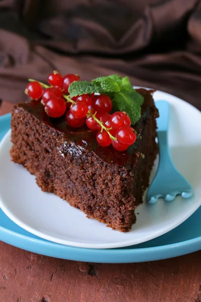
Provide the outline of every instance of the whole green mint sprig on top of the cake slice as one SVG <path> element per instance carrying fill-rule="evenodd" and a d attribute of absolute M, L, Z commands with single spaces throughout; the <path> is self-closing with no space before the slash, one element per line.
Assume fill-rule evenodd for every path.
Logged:
<path fill-rule="evenodd" d="M 112 74 L 91 82 L 76 81 L 70 84 L 68 92 L 71 98 L 83 94 L 107 94 L 113 102 L 114 110 L 127 112 L 132 125 L 141 117 L 144 98 L 133 89 L 128 77 L 121 78 L 118 74 Z"/>

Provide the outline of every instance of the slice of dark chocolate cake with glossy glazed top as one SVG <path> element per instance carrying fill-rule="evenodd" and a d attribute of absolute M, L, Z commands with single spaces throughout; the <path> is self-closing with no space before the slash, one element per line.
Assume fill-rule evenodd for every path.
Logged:
<path fill-rule="evenodd" d="M 64 117 L 50 118 L 33 100 L 14 107 L 12 160 L 34 174 L 43 191 L 60 196 L 88 218 L 130 231 L 157 155 L 153 91 L 137 91 L 144 97 L 142 115 L 134 126 L 137 139 L 127 150 L 98 145 L 95 131 L 71 128 Z"/>

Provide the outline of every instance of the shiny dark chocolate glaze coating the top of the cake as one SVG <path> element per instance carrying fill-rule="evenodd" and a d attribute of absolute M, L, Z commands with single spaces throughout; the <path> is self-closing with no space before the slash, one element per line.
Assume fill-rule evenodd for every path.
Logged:
<path fill-rule="evenodd" d="M 80 128 L 72 128 L 65 122 L 65 116 L 62 116 L 61 118 L 48 117 L 44 111 L 44 106 L 40 103 L 40 101 L 32 100 L 30 103 L 21 103 L 18 106 L 34 115 L 39 121 L 43 122 L 51 128 L 54 128 L 56 131 L 63 133 L 64 142 L 71 141 L 73 142 L 74 146 L 80 146 L 83 156 L 84 152 L 92 151 L 102 161 L 107 162 L 108 164 L 119 165 L 132 170 L 137 163 L 140 152 L 142 152 L 141 145 L 145 121 L 150 117 L 150 109 L 155 109 L 152 98 L 152 93 L 154 91 L 146 89 L 138 89 L 137 91 L 144 97 L 141 118 L 134 125 L 135 130 L 138 132 L 138 135 L 135 143 L 123 152 L 115 150 L 112 145 L 108 147 L 102 147 L 98 145 L 95 139 L 97 131 L 92 131 L 86 126 Z M 65 153 L 65 150 L 62 150 L 62 152 Z"/>

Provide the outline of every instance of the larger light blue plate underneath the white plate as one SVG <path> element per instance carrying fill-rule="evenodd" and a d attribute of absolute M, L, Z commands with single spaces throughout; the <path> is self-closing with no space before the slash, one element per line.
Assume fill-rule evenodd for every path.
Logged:
<path fill-rule="evenodd" d="M 0 140 L 10 129 L 11 115 L 0 117 Z M 3 173 L 3 172 L 2 172 Z M 172 258 L 201 249 L 201 207 L 174 230 L 148 242 L 119 249 L 84 249 L 39 238 L 9 219 L 0 209 L 0 240 L 34 253 L 68 260 L 129 263 Z"/>

